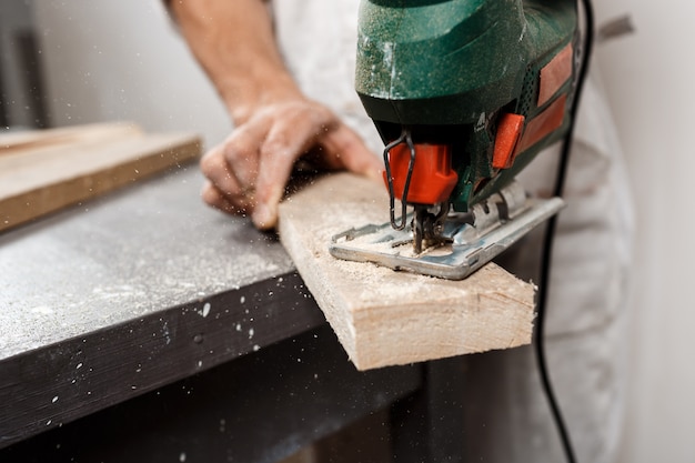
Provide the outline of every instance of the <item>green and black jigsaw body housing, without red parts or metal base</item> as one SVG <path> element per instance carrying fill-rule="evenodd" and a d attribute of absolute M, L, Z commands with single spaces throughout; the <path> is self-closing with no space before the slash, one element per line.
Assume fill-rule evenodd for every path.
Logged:
<path fill-rule="evenodd" d="M 355 87 L 367 114 L 386 143 L 405 127 L 415 142 L 452 147 L 454 210 L 498 191 L 566 132 L 574 0 L 363 0 L 360 18 Z M 541 99 L 542 70 L 567 48 L 570 77 Z M 523 138 L 558 99 L 553 130 L 517 147 L 511 165 L 494 168 L 500 117 L 524 117 Z"/>

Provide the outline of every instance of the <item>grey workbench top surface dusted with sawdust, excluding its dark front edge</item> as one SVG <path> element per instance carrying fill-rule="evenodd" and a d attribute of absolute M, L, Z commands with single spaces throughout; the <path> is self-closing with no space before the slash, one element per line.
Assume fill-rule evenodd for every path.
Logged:
<path fill-rule="evenodd" d="M 194 165 L 0 234 L 0 359 L 292 271 Z"/>

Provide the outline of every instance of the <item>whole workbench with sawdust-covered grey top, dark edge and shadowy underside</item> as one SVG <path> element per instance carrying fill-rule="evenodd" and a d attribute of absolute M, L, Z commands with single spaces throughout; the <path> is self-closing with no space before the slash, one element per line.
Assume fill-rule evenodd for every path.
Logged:
<path fill-rule="evenodd" d="M 0 234 L 0 462 L 273 462 L 384 410 L 395 460 L 461 461 L 461 359 L 357 372 L 276 238 L 201 184 Z"/>

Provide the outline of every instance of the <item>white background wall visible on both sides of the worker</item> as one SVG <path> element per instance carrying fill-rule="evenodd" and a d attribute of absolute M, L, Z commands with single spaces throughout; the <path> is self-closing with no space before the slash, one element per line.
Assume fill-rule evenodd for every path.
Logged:
<path fill-rule="evenodd" d="M 600 19 L 629 11 L 637 27 L 598 50 L 638 220 L 622 462 L 693 462 L 695 2 L 596 7 Z M 215 93 L 157 0 L 39 1 L 36 9 L 53 121 L 128 119 L 149 130 L 198 131 L 208 143 L 225 135 L 229 121 Z"/>

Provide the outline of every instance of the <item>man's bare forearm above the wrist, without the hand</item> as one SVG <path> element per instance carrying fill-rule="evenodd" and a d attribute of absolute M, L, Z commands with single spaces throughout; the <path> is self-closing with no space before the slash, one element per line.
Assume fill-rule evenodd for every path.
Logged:
<path fill-rule="evenodd" d="M 172 0 L 171 10 L 234 123 L 263 104 L 299 95 L 262 0 Z"/>

